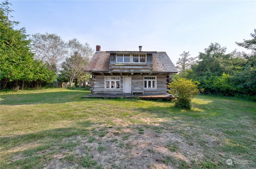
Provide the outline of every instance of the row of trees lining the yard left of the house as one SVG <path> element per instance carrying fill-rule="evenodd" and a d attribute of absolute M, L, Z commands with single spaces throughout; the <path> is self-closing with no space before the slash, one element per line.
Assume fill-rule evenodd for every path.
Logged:
<path fill-rule="evenodd" d="M 54 81 L 82 83 L 89 76 L 83 69 L 94 51 L 76 38 L 65 42 L 54 33 L 27 35 L 26 29 L 14 29 L 8 1 L 0 10 L 1 89 L 39 88 Z M 70 83 L 71 84 L 71 83 Z"/>

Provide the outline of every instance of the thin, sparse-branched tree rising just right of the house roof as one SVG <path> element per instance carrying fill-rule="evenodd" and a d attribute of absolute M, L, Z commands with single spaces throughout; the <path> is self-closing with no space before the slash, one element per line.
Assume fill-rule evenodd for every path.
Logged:
<path fill-rule="evenodd" d="M 183 51 L 183 53 L 180 55 L 181 58 L 179 57 L 178 61 L 176 62 L 176 68 L 180 72 L 180 74 L 184 74 L 187 69 L 190 68 L 190 66 L 193 64 L 193 61 L 195 58 L 190 57 L 189 52 Z"/>

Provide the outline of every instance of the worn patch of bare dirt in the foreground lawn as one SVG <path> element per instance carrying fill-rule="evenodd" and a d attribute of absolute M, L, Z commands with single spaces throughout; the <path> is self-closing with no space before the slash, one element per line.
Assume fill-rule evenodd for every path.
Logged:
<path fill-rule="evenodd" d="M 101 132 L 106 135 L 102 137 Z M 88 137 L 72 139 L 80 141 L 80 145 L 55 155 L 46 169 L 79 168 L 79 160 L 84 157 L 96 161 L 89 168 L 172 169 L 181 163 L 189 167 L 190 161 L 203 157 L 199 145 L 189 145 L 182 136 L 160 124 L 98 128 Z M 172 145 L 175 149 L 171 149 Z M 76 159 L 65 160 L 68 155 Z"/>

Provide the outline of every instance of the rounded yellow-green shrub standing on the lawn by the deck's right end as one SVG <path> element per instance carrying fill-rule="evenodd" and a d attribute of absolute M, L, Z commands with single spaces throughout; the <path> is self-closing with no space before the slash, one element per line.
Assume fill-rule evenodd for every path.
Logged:
<path fill-rule="evenodd" d="M 199 90 L 197 85 L 200 83 L 197 81 L 188 80 L 185 78 L 177 78 L 172 83 L 168 84 L 168 92 L 173 94 L 176 98 L 175 106 L 178 108 L 190 109 L 192 107 L 191 100 L 203 92 L 204 89 Z"/>

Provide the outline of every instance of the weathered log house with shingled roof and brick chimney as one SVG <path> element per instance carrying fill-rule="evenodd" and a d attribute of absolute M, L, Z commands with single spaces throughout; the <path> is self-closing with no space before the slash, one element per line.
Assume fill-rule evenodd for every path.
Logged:
<path fill-rule="evenodd" d="M 84 71 L 91 74 L 92 94 L 165 94 L 169 75 L 178 70 L 166 52 L 101 51 L 100 45 Z"/>

